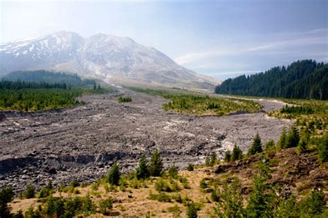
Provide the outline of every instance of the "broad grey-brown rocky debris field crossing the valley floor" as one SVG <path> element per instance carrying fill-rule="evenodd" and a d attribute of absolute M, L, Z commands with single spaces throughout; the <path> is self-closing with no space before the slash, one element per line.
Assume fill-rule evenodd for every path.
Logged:
<path fill-rule="evenodd" d="M 197 117 L 163 111 L 167 100 L 121 89 L 132 102 L 118 103 L 118 93 L 84 96 L 86 105 L 60 111 L 0 114 L 0 187 L 21 190 L 73 179 L 92 182 L 113 161 L 123 170 L 136 167 L 142 152 L 158 148 L 165 165 L 200 164 L 206 155 L 222 156 L 237 143 L 244 151 L 258 132 L 277 140 L 290 120 L 265 116 L 282 102 L 257 100 L 260 113 Z"/>

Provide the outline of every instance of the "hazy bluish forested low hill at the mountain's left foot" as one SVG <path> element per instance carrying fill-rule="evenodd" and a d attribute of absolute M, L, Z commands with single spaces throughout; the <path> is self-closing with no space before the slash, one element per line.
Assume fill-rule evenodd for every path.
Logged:
<path fill-rule="evenodd" d="M 15 71 L 8 73 L 3 77 L 7 81 L 25 81 L 25 82 L 47 82 L 51 84 L 71 84 L 71 85 L 84 85 L 95 84 L 94 80 L 82 80 L 77 74 L 60 73 L 53 71 Z"/>

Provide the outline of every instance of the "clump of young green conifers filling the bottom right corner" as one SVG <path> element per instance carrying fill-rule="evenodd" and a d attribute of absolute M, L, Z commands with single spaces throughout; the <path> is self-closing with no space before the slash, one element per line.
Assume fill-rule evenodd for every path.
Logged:
<path fill-rule="evenodd" d="M 293 194 L 284 197 L 277 194 L 276 185 L 268 183 L 271 170 L 268 163 L 259 162 L 259 172 L 253 178 L 252 193 L 244 206 L 242 187 L 237 178 L 226 179 L 221 189 L 215 193 L 217 207 L 214 212 L 218 217 L 321 217 L 326 208 L 325 194 L 316 188 L 311 194 L 296 201 Z M 216 194 L 215 194 L 216 195 Z M 324 217 L 324 216 L 323 216 Z"/>

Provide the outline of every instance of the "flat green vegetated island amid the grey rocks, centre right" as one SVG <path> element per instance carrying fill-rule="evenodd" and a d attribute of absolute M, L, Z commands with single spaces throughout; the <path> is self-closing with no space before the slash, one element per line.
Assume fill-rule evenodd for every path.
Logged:
<path fill-rule="evenodd" d="M 261 106 L 257 102 L 251 100 L 215 98 L 200 94 L 154 89 L 130 89 L 169 99 L 170 102 L 163 105 L 165 111 L 191 113 L 199 116 L 224 116 L 237 111 L 255 113 L 261 109 Z"/>

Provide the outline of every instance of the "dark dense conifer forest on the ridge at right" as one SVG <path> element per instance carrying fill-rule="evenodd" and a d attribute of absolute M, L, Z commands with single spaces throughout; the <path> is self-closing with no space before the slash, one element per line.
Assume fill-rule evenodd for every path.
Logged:
<path fill-rule="evenodd" d="M 327 100 L 328 64 L 302 60 L 276 66 L 264 73 L 225 80 L 215 87 L 215 93 Z"/>

